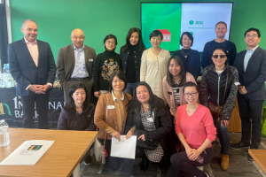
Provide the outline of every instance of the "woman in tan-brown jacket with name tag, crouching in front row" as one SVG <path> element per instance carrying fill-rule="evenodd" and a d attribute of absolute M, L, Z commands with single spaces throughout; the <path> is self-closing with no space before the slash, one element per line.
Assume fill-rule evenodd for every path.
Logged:
<path fill-rule="evenodd" d="M 113 170 L 121 165 L 121 158 L 110 157 L 112 136 L 120 141 L 121 134 L 128 116 L 128 103 L 132 99 L 129 94 L 123 93 L 127 86 L 125 74 L 121 71 L 113 71 L 109 78 L 109 93 L 98 98 L 94 122 L 99 128 L 98 141 L 104 144 L 106 136 L 106 151 L 108 157 L 106 163 Z"/>

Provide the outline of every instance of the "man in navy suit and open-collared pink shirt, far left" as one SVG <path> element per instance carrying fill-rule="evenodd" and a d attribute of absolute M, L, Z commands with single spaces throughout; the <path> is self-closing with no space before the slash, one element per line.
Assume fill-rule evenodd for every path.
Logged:
<path fill-rule="evenodd" d="M 21 27 L 24 38 L 8 45 L 10 72 L 17 82 L 17 96 L 23 104 L 24 127 L 35 127 L 35 108 L 39 128 L 48 129 L 49 89 L 52 87 L 56 65 L 49 43 L 36 40 L 38 27 L 26 19 Z"/>

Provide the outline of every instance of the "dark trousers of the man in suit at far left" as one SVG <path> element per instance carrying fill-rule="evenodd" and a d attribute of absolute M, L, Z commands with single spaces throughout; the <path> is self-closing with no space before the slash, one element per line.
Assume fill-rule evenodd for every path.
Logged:
<path fill-rule="evenodd" d="M 35 108 L 37 110 L 37 118 L 40 129 L 49 129 L 48 123 L 48 102 L 49 91 L 45 94 L 35 94 L 32 96 L 21 96 L 23 104 L 24 127 L 35 128 Z"/>

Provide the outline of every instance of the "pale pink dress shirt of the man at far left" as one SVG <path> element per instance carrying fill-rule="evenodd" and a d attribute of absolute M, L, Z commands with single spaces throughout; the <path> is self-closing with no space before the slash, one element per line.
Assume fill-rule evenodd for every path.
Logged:
<path fill-rule="evenodd" d="M 24 40 L 27 44 L 27 49 L 31 55 L 31 57 L 33 58 L 36 67 L 38 67 L 38 59 L 39 59 L 39 50 L 38 50 L 38 44 L 37 44 L 37 40 L 35 39 L 35 42 L 28 42 L 27 39 L 24 37 Z M 47 85 L 50 85 L 50 87 L 52 87 L 52 84 L 47 82 Z M 26 90 L 31 86 L 31 84 L 29 84 L 26 88 Z"/>

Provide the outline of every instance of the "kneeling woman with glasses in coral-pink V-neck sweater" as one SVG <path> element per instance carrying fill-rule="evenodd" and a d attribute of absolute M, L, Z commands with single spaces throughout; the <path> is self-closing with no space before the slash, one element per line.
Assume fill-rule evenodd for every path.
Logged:
<path fill-rule="evenodd" d="M 171 156 L 171 165 L 166 176 L 182 176 L 181 171 L 192 176 L 207 177 L 197 166 L 207 165 L 213 158 L 212 144 L 216 128 L 207 107 L 198 103 L 199 89 L 192 81 L 184 83 L 184 97 L 188 104 L 178 107 L 176 135 L 185 151 Z"/>

